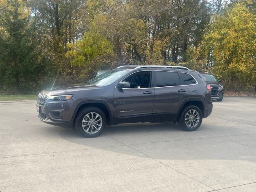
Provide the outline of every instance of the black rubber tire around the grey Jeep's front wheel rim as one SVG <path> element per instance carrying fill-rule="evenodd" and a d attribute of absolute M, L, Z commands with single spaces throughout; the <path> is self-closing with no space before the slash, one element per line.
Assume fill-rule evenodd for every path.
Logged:
<path fill-rule="evenodd" d="M 98 113 L 102 119 L 102 126 L 98 130 L 98 132 L 88 133 L 82 127 L 82 121 L 83 121 L 84 117 L 86 116 L 86 114 L 89 114 L 89 113 Z M 76 116 L 75 126 L 76 126 L 77 132 L 86 138 L 98 137 L 100 134 L 102 134 L 104 128 L 106 127 L 106 115 L 104 114 L 104 112 L 102 110 L 100 110 L 97 107 L 86 107 L 86 108 L 82 109 Z M 95 128 L 93 128 L 91 130 L 96 131 Z"/>

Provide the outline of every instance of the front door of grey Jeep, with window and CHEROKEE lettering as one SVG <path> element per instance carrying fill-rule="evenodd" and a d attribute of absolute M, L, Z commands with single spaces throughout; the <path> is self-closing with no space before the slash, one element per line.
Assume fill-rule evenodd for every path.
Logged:
<path fill-rule="evenodd" d="M 154 104 L 154 71 L 145 70 L 130 74 L 121 82 L 130 83 L 130 88 L 114 89 L 114 121 L 147 122 L 152 118 Z"/>

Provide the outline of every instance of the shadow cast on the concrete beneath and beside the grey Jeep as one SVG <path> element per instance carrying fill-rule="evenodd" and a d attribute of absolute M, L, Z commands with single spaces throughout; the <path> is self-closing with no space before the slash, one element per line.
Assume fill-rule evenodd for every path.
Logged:
<path fill-rule="evenodd" d="M 107 150 L 118 154 L 140 157 L 147 154 L 162 160 L 222 159 L 256 162 L 252 155 L 254 148 L 204 133 L 213 128 L 202 125 L 198 131 L 186 132 L 172 122 L 134 123 L 107 126 L 97 138 L 84 138 L 74 129 L 62 129 L 59 135 L 68 142 L 84 145 L 86 149 Z M 218 126 L 219 130 L 225 128 Z"/>

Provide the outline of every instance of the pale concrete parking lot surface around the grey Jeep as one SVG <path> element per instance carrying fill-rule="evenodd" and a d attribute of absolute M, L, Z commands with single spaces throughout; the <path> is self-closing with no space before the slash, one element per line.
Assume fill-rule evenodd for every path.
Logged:
<path fill-rule="evenodd" d="M 1 192 L 256 191 L 256 98 L 224 97 L 195 132 L 172 122 L 108 126 L 98 138 L 0 103 Z"/>

